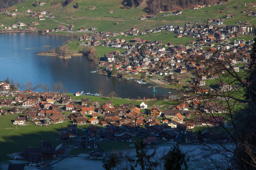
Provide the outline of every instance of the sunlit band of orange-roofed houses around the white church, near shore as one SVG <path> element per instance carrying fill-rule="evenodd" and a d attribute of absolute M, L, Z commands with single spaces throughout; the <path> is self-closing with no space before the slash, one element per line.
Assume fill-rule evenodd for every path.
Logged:
<path fill-rule="evenodd" d="M 224 85 L 221 84 L 221 87 L 224 88 Z M 164 111 L 156 105 L 148 107 L 145 98 L 139 106 L 133 107 L 130 104 L 113 105 L 112 101 L 100 104 L 98 101 L 90 101 L 86 97 L 81 99 L 81 104 L 78 104 L 71 100 L 71 96 L 53 92 L 9 91 L 11 91 L 9 98 L 2 98 L 0 107 L 10 107 L 14 104 L 16 107 L 0 108 L 0 111 L 2 114 L 24 113 L 24 116 L 15 118 L 13 124 L 16 125 L 26 125 L 27 122 L 32 121 L 35 125 L 47 126 L 72 120 L 74 125 L 126 126 L 127 128 L 143 127 L 146 129 L 151 129 L 151 126 L 164 125 L 170 129 L 186 130 L 193 129 L 195 125 L 217 125 L 217 122 L 213 121 L 214 117 L 209 117 L 209 120 L 207 118 L 200 121 L 189 120 L 191 114 L 195 114 L 191 111 L 193 108 L 205 113 L 226 112 L 226 108 L 220 107 L 218 103 L 201 104 L 200 100 L 187 100 L 186 103 Z M 60 107 L 60 105 L 64 105 L 64 107 Z M 67 115 L 64 112 L 70 114 Z M 223 117 L 220 119 L 224 122 Z M 72 131 L 65 131 L 63 135 L 66 136 L 67 133 L 74 135 Z"/>

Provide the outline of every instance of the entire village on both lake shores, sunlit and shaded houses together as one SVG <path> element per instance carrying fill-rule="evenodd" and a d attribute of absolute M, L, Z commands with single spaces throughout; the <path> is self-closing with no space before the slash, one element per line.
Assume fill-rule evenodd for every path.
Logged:
<path fill-rule="evenodd" d="M 195 6 L 193 9 L 203 7 Z M 16 15 L 15 12 L 2 12 L 5 15 Z M 55 18 L 51 12 L 26 12 L 39 21 L 29 24 L 17 21 L 8 27 L 3 24 L 0 26 L 5 29 L 22 29 L 28 26 L 27 29 L 36 30 L 40 20 Z M 254 11 L 241 12 L 256 16 Z M 180 14 L 182 11 L 176 11 L 172 15 Z M 154 17 L 148 15 L 141 16 L 140 19 Z M 232 17 L 232 14 L 225 16 Z M 60 24 L 55 29 L 40 31 L 51 33 L 74 29 L 74 24 Z M 141 137 L 148 148 L 155 148 L 162 142 L 185 145 L 232 142 L 226 133 L 213 135 L 208 129 L 220 126 L 232 128 L 225 117 L 229 106 L 222 103 L 222 97 L 203 97 L 212 92 L 221 95 L 221 92 L 225 94 L 240 91 L 240 82 L 224 78 L 223 75 L 230 72 L 241 75 L 242 81 L 246 83 L 244 75 L 250 62 L 255 35 L 255 27 L 249 21 L 225 25 L 223 18 L 219 18 L 208 19 L 204 24 L 188 22 L 185 25 L 169 24 L 157 28 L 133 27 L 123 32 L 98 32 L 93 26 L 89 29 L 79 28 L 79 32 L 85 33 L 84 36 L 79 36 L 77 45 L 81 48 L 105 46 L 114 49 L 100 56 L 100 61 L 96 63 L 96 70 L 101 74 L 140 79 L 142 83 L 184 90 L 185 95 L 169 94 L 159 97 L 157 100 L 164 104 L 145 97 L 136 103 L 127 104 L 117 103 L 113 97 L 104 98 L 104 101 L 101 97 L 90 100 L 90 97 L 81 92 L 68 94 L 47 90 L 21 91 L 14 84 L 0 81 L 1 117 L 15 115 L 11 123 L 16 129 L 31 125 L 48 128 L 68 123 L 59 129 L 57 146 L 53 147 L 52 141 L 44 140 L 36 144 L 39 147 L 17 150 L 18 154 L 13 159 L 26 160 L 30 166 L 43 168 L 51 164 L 53 158 L 64 159 L 71 155 L 71 150 L 85 148 L 88 148 L 90 159 L 108 159 L 108 153 L 102 150 L 99 143 L 129 142 L 129 145 L 133 145 Z M 93 35 L 89 34 L 92 32 Z M 145 40 L 137 37 L 154 33 L 166 33 L 166 36 L 175 33 L 177 39 L 189 37 L 193 40 L 176 44 L 175 41 L 163 43 L 160 39 Z M 246 37 L 246 40 L 240 36 Z"/>

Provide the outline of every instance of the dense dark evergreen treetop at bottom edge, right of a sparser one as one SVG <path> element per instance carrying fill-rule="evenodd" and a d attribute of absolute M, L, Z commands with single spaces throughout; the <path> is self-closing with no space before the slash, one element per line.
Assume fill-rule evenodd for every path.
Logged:
<path fill-rule="evenodd" d="M 179 145 L 173 146 L 166 156 L 164 156 L 164 168 L 166 170 L 180 170 L 185 166 L 188 169 L 185 154 L 181 152 Z"/>

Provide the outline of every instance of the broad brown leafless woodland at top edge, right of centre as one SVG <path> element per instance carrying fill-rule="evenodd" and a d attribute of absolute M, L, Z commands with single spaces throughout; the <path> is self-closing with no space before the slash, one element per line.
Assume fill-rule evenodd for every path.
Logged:
<path fill-rule="evenodd" d="M 212 0 L 147 0 L 146 10 L 149 14 L 156 14 L 159 10 L 171 11 L 181 8 L 191 8 L 195 5 L 208 5 L 214 2 Z"/>

